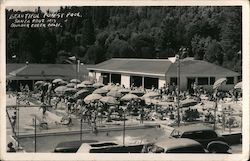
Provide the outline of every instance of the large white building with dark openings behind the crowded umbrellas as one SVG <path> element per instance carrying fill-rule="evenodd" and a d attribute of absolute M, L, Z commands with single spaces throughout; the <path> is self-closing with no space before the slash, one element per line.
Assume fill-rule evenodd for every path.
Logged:
<path fill-rule="evenodd" d="M 113 58 L 87 68 L 89 76 L 104 84 L 119 83 L 125 87 L 143 86 L 160 88 L 164 84 L 177 84 L 177 64 L 168 59 Z M 227 78 L 224 90 L 232 89 L 238 82 L 239 73 L 218 65 L 193 58 L 180 60 L 180 89 L 187 90 L 197 82 L 205 89 L 219 78 Z"/>

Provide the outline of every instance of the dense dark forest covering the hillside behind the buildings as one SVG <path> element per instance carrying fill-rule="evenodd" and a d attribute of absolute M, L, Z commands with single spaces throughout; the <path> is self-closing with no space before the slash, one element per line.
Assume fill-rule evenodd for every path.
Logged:
<path fill-rule="evenodd" d="M 75 56 L 97 64 L 180 54 L 242 72 L 240 6 L 64 6 L 57 12 L 69 11 L 83 16 L 60 28 L 11 28 L 13 13 L 52 11 L 6 10 L 6 63 L 70 63 Z"/>

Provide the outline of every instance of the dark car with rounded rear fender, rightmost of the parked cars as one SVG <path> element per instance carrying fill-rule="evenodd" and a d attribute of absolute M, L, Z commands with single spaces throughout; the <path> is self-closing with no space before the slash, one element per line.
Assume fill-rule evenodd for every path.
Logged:
<path fill-rule="evenodd" d="M 230 146 L 224 137 L 218 135 L 212 128 L 203 125 L 188 125 L 175 128 L 170 137 L 189 138 L 199 142 L 210 152 L 230 153 Z"/>

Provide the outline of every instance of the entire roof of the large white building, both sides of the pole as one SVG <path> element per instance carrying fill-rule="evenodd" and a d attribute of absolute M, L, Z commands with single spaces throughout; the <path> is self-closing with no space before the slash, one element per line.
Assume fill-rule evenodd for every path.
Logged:
<path fill-rule="evenodd" d="M 177 64 L 168 59 L 122 59 L 112 58 L 88 70 L 127 73 L 135 75 L 150 76 L 177 76 Z M 239 76 L 238 73 L 218 65 L 190 58 L 182 59 L 180 62 L 180 73 L 186 76 Z"/>

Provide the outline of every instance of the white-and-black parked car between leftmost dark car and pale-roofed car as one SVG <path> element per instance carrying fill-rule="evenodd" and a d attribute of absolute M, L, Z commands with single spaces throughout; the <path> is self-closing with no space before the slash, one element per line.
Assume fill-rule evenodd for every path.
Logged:
<path fill-rule="evenodd" d="M 144 144 L 118 145 L 112 142 L 84 143 L 77 153 L 141 153 Z"/>

